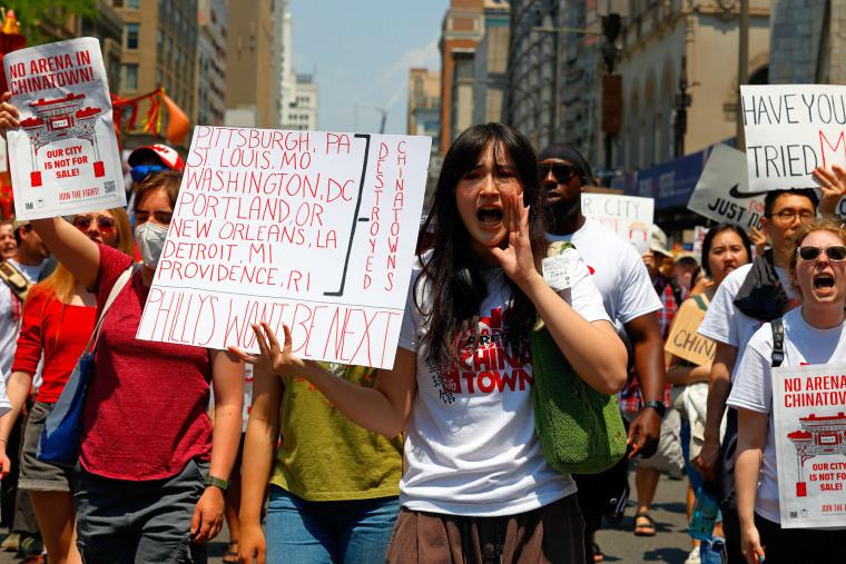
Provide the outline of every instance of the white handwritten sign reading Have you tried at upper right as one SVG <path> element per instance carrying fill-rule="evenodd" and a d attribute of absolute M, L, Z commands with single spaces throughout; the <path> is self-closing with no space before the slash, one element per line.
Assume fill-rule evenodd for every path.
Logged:
<path fill-rule="evenodd" d="M 846 168 L 846 87 L 740 86 L 748 191 L 813 188 L 816 167 Z"/>

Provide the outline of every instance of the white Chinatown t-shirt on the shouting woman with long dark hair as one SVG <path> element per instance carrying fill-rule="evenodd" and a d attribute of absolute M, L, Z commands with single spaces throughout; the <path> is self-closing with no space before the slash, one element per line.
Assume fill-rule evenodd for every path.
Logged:
<path fill-rule="evenodd" d="M 606 319 L 602 298 L 578 259 L 564 300 L 589 321 Z M 415 285 L 412 273 L 400 346 L 416 353 L 417 393 L 405 438 L 405 474 L 400 503 L 412 511 L 465 516 L 514 515 L 576 492 L 568 474 L 543 457 L 534 433 L 529 340 L 519 350 L 503 346 L 502 316 L 510 288 L 500 268 L 488 270 L 479 323 L 479 347 L 461 338 L 462 364 L 430 366 L 422 343 L 429 327 L 414 301 L 431 307 L 431 284 Z M 416 287 L 415 287 L 416 286 Z M 475 335 L 472 337 L 475 339 Z"/>

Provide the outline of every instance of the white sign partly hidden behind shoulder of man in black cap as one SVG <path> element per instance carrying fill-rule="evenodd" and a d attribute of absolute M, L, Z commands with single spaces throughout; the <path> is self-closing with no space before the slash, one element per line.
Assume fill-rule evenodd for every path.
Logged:
<path fill-rule="evenodd" d="M 634 245 L 641 255 L 649 250 L 650 229 L 655 212 L 652 198 L 617 196 L 612 194 L 582 194 L 582 214 L 609 227 Z"/>

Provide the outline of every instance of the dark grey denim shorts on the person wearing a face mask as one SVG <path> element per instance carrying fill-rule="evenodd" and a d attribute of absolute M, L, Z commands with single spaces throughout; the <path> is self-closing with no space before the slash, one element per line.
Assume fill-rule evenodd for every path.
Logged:
<path fill-rule="evenodd" d="M 77 463 L 73 505 L 82 562 L 205 564 L 206 545 L 191 542 L 190 527 L 208 467 L 190 461 L 176 476 L 131 482 L 97 476 Z"/>

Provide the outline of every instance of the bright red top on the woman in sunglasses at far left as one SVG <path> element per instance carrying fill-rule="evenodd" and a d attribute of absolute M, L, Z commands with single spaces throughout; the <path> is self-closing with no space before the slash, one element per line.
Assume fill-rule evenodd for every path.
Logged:
<path fill-rule="evenodd" d="M 35 375 L 43 353 L 42 382 L 36 399 L 52 403 L 59 399 L 88 344 L 97 310 L 87 306 L 63 306 L 56 299 L 56 293 L 38 289 L 36 286 L 30 290 L 31 298 L 23 305 L 12 372 Z"/>

